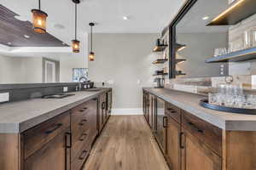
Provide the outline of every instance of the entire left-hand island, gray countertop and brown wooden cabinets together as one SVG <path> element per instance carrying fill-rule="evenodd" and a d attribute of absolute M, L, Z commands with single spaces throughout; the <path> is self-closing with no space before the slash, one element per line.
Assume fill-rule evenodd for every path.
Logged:
<path fill-rule="evenodd" d="M 79 170 L 108 121 L 112 89 L 0 105 L 0 169 Z"/>

